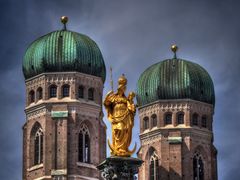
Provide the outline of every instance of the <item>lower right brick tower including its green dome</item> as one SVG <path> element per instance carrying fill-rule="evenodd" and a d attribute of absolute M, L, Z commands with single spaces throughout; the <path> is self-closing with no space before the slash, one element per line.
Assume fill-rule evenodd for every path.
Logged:
<path fill-rule="evenodd" d="M 138 80 L 139 179 L 217 180 L 214 86 L 198 64 L 167 59 Z"/>

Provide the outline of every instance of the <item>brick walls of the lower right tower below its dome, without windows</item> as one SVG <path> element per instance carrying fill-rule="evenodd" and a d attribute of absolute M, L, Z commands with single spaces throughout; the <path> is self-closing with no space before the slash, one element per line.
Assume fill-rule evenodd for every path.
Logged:
<path fill-rule="evenodd" d="M 184 113 L 184 123 L 178 124 L 178 113 Z M 172 123 L 165 124 L 165 114 L 172 114 Z M 198 124 L 192 116 L 198 114 Z M 200 154 L 204 163 L 204 180 L 217 180 L 217 151 L 213 145 L 213 106 L 194 100 L 158 101 L 139 108 L 140 141 L 139 158 L 144 163 L 139 169 L 139 179 L 149 179 L 150 150 L 158 156 L 159 179 L 193 180 L 193 157 Z M 157 127 L 144 129 L 143 119 L 157 115 Z M 207 117 L 203 127 L 201 117 Z M 150 124 L 151 124 L 151 118 Z"/>

